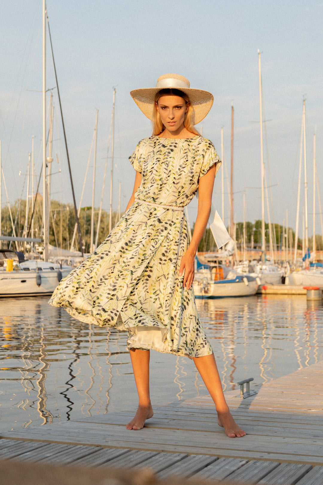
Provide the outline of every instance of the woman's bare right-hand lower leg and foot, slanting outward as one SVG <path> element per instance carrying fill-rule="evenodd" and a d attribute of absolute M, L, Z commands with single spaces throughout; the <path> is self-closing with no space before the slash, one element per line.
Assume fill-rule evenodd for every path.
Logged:
<path fill-rule="evenodd" d="M 214 354 L 211 356 L 193 357 L 193 360 L 214 401 L 219 426 L 224 428 L 229 438 L 245 436 L 246 433 L 236 424 L 226 403 Z"/>

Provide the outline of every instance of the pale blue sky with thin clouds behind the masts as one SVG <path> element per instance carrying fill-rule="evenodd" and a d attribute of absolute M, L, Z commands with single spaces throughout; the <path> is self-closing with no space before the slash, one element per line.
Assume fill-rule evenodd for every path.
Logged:
<path fill-rule="evenodd" d="M 41 93 L 30 91 L 42 87 L 41 5 L 41 0 L 3 0 L 0 5 L 0 139 L 11 201 L 20 196 L 23 188 L 32 134 L 35 136 L 37 173 L 41 165 Z M 319 176 L 323 155 L 323 2 L 48 0 L 47 10 L 77 204 L 89 157 L 96 109 L 99 109 L 97 163 L 100 166 L 95 205 L 100 203 L 113 86 L 117 88 L 115 163 L 119 170 L 119 173 L 116 169 L 114 171 L 114 209 L 117 209 L 121 180 L 124 210 L 134 180 L 134 171 L 127 157 L 141 138 L 151 134 L 149 120 L 138 110 L 129 91 L 153 87 L 159 75 L 175 72 L 186 76 L 191 87 L 214 94 L 215 102 L 201 123 L 202 131 L 220 153 L 220 129 L 224 128 L 228 164 L 233 103 L 235 219 L 243 219 L 244 191 L 247 220 L 259 219 L 257 49 L 260 49 L 265 116 L 271 120 L 267 123 L 267 136 L 274 220 L 282 223 L 288 209 L 290 225 L 295 224 L 304 95 L 307 98 L 308 205 L 309 214 L 312 213 L 315 129 Z M 49 49 L 47 52 L 47 87 L 51 88 L 55 81 Z M 58 119 L 56 94 L 54 102 L 55 118 Z M 54 159 L 57 154 L 62 175 L 53 177 L 52 197 L 71 202 L 62 129 L 58 123 L 54 131 Z M 267 167 L 266 148 L 264 151 Z M 58 168 L 55 163 L 53 172 Z M 91 178 L 90 170 L 82 206 L 91 205 Z M 323 197 L 323 175 L 321 178 Z M 5 202 L 3 192 L 2 204 Z M 108 200 L 109 178 L 105 209 L 108 209 Z M 220 175 L 215 182 L 214 202 L 220 212 Z M 190 214 L 194 216 L 196 201 L 192 202 L 192 206 Z M 226 195 L 226 215 L 227 207 Z M 316 210 L 319 210 L 318 206 Z M 311 218 L 312 215 L 309 215 L 309 231 Z M 317 233 L 320 233 L 319 217 L 316 226 Z"/>

